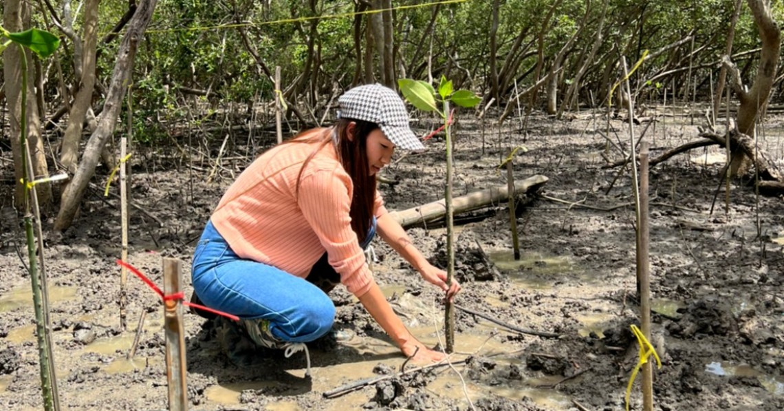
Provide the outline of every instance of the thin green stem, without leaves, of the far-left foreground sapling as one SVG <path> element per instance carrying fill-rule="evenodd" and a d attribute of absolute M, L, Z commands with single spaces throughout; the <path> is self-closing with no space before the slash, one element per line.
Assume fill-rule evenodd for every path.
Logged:
<path fill-rule="evenodd" d="M 41 213 L 38 209 L 38 195 L 35 191 L 34 171 L 30 147 L 27 144 L 27 54 L 24 48 L 20 49 L 20 66 L 22 70 L 22 98 L 20 114 L 20 148 L 22 152 L 22 169 L 24 170 L 24 231 L 27 238 L 27 256 L 30 263 L 30 280 L 33 291 L 33 306 L 35 311 L 35 335 L 38 339 L 38 360 L 41 368 L 41 390 L 46 411 L 59 411 L 60 398 L 57 395 L 56 376 L 52 355 L 52 339 L 49 336 L 49 300 L 47 298 L 45 265 L 43 260 Z M 33 211 L 35 215 L 33 215 Z M 33 219 L 37 220 L 38 246 L 40 247 L 41 268 L 38 272 L 36 261 L 36 241 L 34 235 Z M 40 275 L 40 277 L 39 277 Z"/>

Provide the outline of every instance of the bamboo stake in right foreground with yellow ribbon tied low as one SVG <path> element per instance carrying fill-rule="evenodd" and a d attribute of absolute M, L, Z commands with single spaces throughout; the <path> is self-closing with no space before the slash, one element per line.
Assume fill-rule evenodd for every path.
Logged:
<path fill-rule="evenodd" d="M 650 244 L 648 225 L 648 142 L 640 148 L 640 217 L 637 220 L 637 277 L 640 278 L 640 311 L 642 333 L 651 340 L 651 278 L 648 248 Z M 642 366 L 643 409 L 653 410 L 653 373 L 652 361 Z"/>

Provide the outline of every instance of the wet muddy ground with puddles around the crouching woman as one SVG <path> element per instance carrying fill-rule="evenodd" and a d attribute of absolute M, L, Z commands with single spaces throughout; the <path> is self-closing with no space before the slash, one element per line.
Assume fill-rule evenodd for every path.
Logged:
<path fill-rule="evenodd" d="M 692 125 L 681 110 L 658 114 L 644 136 L 652 156 L 697 138 L 699 118 Z M 413 366 L 339 287 L 332 293 L 336 326 L 355 336 L 311 344 L 313 377 L 305 379 L 302 354 L 259 352 L 252 362 L 234 364 L 212 325 L 188 314 L 190 409 L 624 409 L 638 351 L 630 325 L 639 324 L 632 180 L 629 173 L 615 180 L 618 169 L 602 168 L 606 143 L 597 129 L 604 129 L 603 118 L 590 112 L 568 121 L 535 116 L 530 124 L 525 135 L 517 122 L 507 124 L 501 149 L 489 124 L 463 120 L 457 126 L 456 195 L 505 185 L 506 173 L 497 165 L 510 144 L 528 149 L 514 158 L 516 179 L 540 174 L 549 181 L 539 191 L 548 198 L 520 198 L 520 261 L 511 258 L 505 205 L 457 228 L 456 267 L 464 291 L 456 302 L 560 338 L 517 333 L 458 311 L 454 366 L 393 376 L 401 366 Z M 627 148 L 627 125 L 618 119 L 611 124 L 612 140 Z M 416 126 L 425 133 L 431 125 L 422 120 Z M 644 127 L 638 125 L 637 133 Z M 761 143 L 781 158 L 781 119 L 768 120 L 766 128 Z M 162 256 L 180 258 L 188 295 L 191 252 L 210 210 L 252 150 L 270 144 L 269 135 L 233 136 L 216 166 L 222 137 L 209 149 L 193 143 L 200 136 L 191 147 L 180 140 L 183 151 L 140 147 L 132 159 L 132 198 L 145 212 L 132 209 L 129 262 L 161 284 Z M 247 147 L 249 140 L 254 147 Z M 385 170 L 397 181 L 381 186 L 389 209 L 443 197 L 444 142 L 437 136 L 429 144 L 429 151 L 401 156 Z M 620 158 L 619 151 L 611 146 L 609 157 Z M 728 213 L 722 190 L 710 214 L 723 161 L 713 147 L 652 169 L 652 342 L 662 360 L 654 372 L 655 409 L 784 409 L 784 203 L 772 197 L 757 203 L 753 190 L 735 180 Z M 9 150 L 0 166 L 2 206 L 9 206 Z M 102 186 L 107 174 L 99 170 L 95 183 Z M 64 235 L 53 234 L 52 217 L 44 221 L 45 256 L 62 409 L 166 409 L 163 308 L 134 277 L 128 281 L 128 330 L 120 327 L 118 200 L 92 190 Z M 42 397 L 31 287 L 17 255 L 24 254 L 18 223 L 4 217 L 0 233 L 0 409 L 21 411 L 42 409 Z M 408 232 L 443 264 L 443 227 Z M 376 281 L 407 326 L 437 344 L 443 339 L 440 293 L 379 241 L 376 253 Z M 129 360 L 142 312 L 140 342 Z M 337 398 L 323 396 L 383 375 L 390 378 Z M 631 405 L 641 409 L 639 383 Z"/>

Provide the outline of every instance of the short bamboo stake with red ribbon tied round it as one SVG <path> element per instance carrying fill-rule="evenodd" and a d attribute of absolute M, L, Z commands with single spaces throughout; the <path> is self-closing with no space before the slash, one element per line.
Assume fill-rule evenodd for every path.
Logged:
<path fill-rule="evenodd" d="M 173 296 L 181 292 L 180 260 L 163 259 L 163 293 Z M 169 382 L 169 410 L 184 411 L 188 404 L 186 381 L 183 304 L 181 299 L 164 300 L 166 329 L 166 378 Z"/>

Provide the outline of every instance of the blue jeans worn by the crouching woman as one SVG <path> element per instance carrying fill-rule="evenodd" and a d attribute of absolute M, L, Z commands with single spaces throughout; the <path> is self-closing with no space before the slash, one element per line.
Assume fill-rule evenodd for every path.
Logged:
<path fill-rule="evenodd" d="M 375 235 L 374 218 L 363 249 Z M 332 270 L 323 265 L 316 264 L 319 271 Z M 327 273 L 336 274 L 334 270 Z M 194 293 L 205 306 L 240 318 L 266 319 L 270 333 L 281 341 L 316 340 L 335 321 L 335 305 L 318 286 L 276 267 L 240 258 L 212 222 L 207 223 L 194 250 L 191 276 Z"/>

